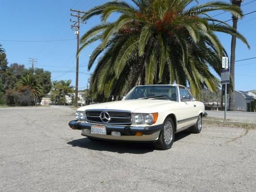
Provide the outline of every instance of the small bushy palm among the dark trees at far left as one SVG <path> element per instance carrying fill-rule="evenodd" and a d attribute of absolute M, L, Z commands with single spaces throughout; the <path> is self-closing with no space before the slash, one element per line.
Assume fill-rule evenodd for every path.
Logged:
<path fill-rule="evenodd" d="M 22 91 L 25 88 L 29 89 L 33 95 L 34 101 L 37 102 L 42 94 L 42 87 L 36 80 L 30 76 L 26 75 L 18 80 L 16 83 L 16 91 Z"/>

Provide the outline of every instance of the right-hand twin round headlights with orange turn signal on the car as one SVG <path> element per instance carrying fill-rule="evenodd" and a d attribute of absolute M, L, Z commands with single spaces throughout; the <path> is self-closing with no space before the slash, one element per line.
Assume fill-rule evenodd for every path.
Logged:
<path fill-rule="evenodd" d="M 133 124 L 154 124 L 157 118 L 158 113 L 135 113 L 133 114 Z"/>

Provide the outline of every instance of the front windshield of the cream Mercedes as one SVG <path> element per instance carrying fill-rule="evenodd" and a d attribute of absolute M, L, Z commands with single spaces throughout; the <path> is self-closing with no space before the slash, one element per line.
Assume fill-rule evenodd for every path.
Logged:
<path fill-rule="evenodd" d="M 137 86 L 124 100 L 130 99 L 170 99 L 177 101 L 175 86 Z"/>

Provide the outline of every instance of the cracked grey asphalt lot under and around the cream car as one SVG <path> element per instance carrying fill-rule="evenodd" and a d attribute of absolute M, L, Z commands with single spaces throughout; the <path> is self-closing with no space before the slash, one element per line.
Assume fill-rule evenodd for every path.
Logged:
<path fill-rule="evenodd" d="M 256 130 L 206 124 L 173 147 L 92 142 L 69 108 L 0 108 L 0 191 L 255 191 Z"/>

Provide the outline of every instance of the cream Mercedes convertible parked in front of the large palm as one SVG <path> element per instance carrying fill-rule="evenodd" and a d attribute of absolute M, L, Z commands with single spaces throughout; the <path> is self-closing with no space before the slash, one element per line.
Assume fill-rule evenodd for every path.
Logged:
<path fill-rule="evenodd" d="M 91 140 L 154 142 L 167 150 L 175 133 L 200 133 L 203 114 L 204 104 L 184 86 L 136 86 L 121 101 L 82 106 L 69 126 Z"/>

